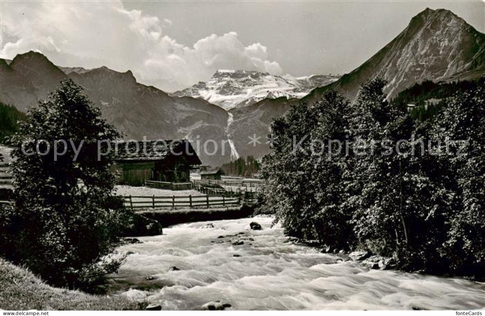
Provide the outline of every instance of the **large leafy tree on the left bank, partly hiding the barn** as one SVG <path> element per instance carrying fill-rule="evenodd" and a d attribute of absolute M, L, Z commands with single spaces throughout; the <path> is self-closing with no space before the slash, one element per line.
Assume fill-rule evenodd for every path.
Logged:
<path fill-rule="evenodd" d="M 15 208 L 4 214 L 12 241 L 1 251 L 54 285 L 86 287 L 120 264 L 110 258 L 124 216 L 112 198 L 113 155 L 97 155 L 98 141 L 120 134 L 100 116 L 65 80 L 11 138 Z"/>

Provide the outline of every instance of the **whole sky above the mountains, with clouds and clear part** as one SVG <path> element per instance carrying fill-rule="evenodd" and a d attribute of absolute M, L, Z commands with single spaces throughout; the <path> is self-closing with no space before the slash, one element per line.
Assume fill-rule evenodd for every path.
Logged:
<path fill-rule="evenodd" d="M 425 8 L 485 33 L 475 1 L 0 1 L 0 57 L 40 51 L 63 67 L 131 70 L 172 92 L 217 69 L 344 74 Z"/>

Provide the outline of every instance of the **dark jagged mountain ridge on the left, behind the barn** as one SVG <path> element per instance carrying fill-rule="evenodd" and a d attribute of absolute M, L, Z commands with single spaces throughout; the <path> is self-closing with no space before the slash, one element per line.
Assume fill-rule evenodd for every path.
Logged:
<path fill-rule="evenodd" d="M 100 67 L 68 74 L 37 52 L 17 55 L 10 65 L 0 60 L 0 101 L 27 111 L 45 99 L 60 80 L 69 77 L 84 87 L 86 96 L 126 134 L 125 138 L 187 138 L 194 148 L 199 143 L 200 149 L 206 140 L 213 139 L 219 144 L 217 150 L 213 143 L 208 144 L 207 151 L 214 151 L 213 155 L 199 150 L 203 163 L 218 166 L 230 159 L 229 146 L 226 155 L 222 155 L 220 146 L 226 140 L 228 118 L 220 107 L 202 99 L 170 97 L 155 87 L 137 83 L 130 71 Z"/>

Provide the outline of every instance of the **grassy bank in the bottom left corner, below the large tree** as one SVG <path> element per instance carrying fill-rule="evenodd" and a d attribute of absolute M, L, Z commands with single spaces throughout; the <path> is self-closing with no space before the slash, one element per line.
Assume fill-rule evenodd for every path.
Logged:
<path fill-rule="evenodd" d="M 0 309 L 3 310 L 140 310 L 121 297 L 97 296 L 41 281 L 27 269 L 0 259 Z"/>

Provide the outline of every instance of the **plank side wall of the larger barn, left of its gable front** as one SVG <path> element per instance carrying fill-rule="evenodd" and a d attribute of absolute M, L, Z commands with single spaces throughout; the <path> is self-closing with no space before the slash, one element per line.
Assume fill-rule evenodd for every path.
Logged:
<path fill-rule="evenodd" d="M 155 162 L 117 162 L 113 166 L 118 184 L 142 186 L 145 180 L 153 179 Z"/>

